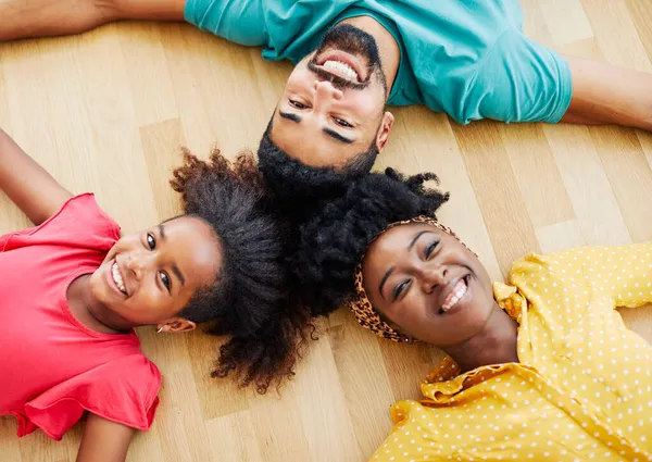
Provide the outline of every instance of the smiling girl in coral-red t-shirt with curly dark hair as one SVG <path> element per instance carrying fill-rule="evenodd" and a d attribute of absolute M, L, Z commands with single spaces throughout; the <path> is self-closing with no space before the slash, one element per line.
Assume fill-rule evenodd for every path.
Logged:
<path fill-rule="evenodd" d="M 265 392 L 292 374 L 306 315 L 288 302 L 287 235 L 250 154 L 185 153 L 185 213 L 121 237 L 0 130 L 0 189 L 36 227 L 0 237 L 0 415 L 61 439 L 84 414 L 78 461 L 122 461 L 152 425 L 161 374 L 134 332 L 228 335 L 214 376 Z"/>

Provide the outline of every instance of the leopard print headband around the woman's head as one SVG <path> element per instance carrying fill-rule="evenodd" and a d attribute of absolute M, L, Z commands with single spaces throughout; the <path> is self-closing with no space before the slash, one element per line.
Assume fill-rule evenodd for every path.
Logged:
<path fill-rule="evenodd" d="M 383 232 L 380 232 L 369 242 L 369 245 L 367 246 L 367 249 L 372 246 L 374 240 L 376 240 L 378 238 L 378 236 L 383 235 L 385 232 L 393 228 L 394 226 L 409 225 L 412 223 L 423 223 L 423 224 L 426 224 L 429 226 L 434 226 L 436 228 L 441 229 L 444 233 L 450 234 L 455 239 L 457 239 L 460 242 L 462 242 L 462 240 L 455 235 L 455 233 L 452 232 L 451 228 L 442 225 L 441 223 L 439 223 L 437 220 L 435 220 L 432 217 L 422 215 L 422 216 L 417 216 L 412 220 L 391 223 L 385 229 L 383 229 Z M 468 249 L 468 247 L 464 242 L 462 242 L 462 245 L 464 245 L 464 247 L 466 247 Z M 356 299 L 347 303 L 347 307 L 349 308 L 349 310 L 351 310 L 353 312 L 353 314 L 355 315 L 355 320 L 358 321 L 358 323 L 361 326 L 372 330 L 377 336 L 387 338 L 387 339 L 393 340 L 393 341 L 409 341 L 405 339 L 405 337 L 403 337 L 396 329 L 393 329 L 389 324 L 387 324 L 385 321 L 383 321 L 380 319 L 380 316 L 378 315 L 378 313 L 376 312 L 376 310 L 374 310 L 374 307 L 372 307 L 372 302 L 367 298 L 366 291 L 364 290 L 363 280 L 362 280 L 362 261 L 363 260 L 364 260 L 364 254 L 360 259 L 360 263 L 358 264 L 358 266 L 355 266 L 354 282 L 355 282 Z"/>

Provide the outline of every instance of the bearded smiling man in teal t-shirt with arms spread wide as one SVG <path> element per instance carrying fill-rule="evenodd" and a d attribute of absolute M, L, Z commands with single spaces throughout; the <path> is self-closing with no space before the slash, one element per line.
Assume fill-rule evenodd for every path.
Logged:
<path fill-rule="evenodd" d="M 517 0 L 0 0 L 0 40 L 117 20 L 187 21 L 296 63 L 259 158 L 271 186 L 303 203 L 372 168 L 393 123 L 386 104 L 425 104 L 461 124 L 652 130 L 651 75 L 528 39 Z"/>

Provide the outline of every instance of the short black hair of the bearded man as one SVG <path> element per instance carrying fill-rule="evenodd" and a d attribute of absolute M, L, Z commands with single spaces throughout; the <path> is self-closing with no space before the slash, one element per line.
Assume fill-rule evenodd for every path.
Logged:
<path fill-rule="evenodd" d="M 308 166 L 272 140 L 272 127 L 273 118 L 259 146 L 259 168 L 275 195 L 278 211 L 294 224 L 312 216 L 321 201 L 341 196 L 349 183 L 371 172 L 378 155 L 374 141 L 340 170 Z"/>

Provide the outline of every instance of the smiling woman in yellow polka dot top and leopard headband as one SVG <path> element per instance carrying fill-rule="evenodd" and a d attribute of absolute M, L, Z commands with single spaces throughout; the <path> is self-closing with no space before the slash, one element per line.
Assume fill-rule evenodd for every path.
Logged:
<path fill-rule="evenodd" d="M 652 242 L 528 254 L 492 285 L 425 179 L 352 184 L 296 257 L 316 314 L 347 303 L 381 337 L 448 353 L 373 460 L 652 460 L 652 347 L 615 311 L 652 301 Z"/>

